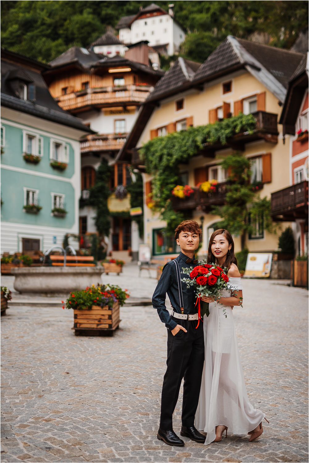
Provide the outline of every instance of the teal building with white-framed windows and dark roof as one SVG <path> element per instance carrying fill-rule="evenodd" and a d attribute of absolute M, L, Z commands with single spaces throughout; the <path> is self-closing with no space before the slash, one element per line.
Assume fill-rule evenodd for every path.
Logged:
<path fill-rule="evenodd" d="M 1 254 L 46 251 L 79 233 L 79 140 L 93 132 L 57 105 L 46 69 L 2 52 Z"/>

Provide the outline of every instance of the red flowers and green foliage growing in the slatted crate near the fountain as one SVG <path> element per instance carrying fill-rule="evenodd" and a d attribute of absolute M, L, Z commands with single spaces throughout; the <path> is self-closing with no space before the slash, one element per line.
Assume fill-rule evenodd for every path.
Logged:
<path fill-rule="evenodd" d="M 91 310 L 96 307 L 113 307 L 115 302 L 119 302 L 119 306 L 123 306 L 125 300 L 130 297 L 128 290 L 121 289 L 117 285 L 92 285 L 82 291 L 73 291 L 68 299 L 62 300 L 62 309 L 78 309 Z"/>

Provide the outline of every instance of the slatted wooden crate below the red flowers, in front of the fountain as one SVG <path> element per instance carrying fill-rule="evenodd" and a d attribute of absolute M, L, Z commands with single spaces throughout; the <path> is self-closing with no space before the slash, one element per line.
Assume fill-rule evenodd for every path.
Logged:
<path fill-rule="evenodd" d="M 110 308 L 92 306 L 91 310 L 74 309 L 75 336 L 112 336 L 120 323 L 119 302 Z"/>

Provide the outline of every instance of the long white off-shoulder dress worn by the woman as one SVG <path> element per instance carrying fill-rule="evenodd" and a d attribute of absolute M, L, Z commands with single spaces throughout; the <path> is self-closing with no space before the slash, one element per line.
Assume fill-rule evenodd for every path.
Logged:
<path fill-rule="evenodd" d="M 242 289 L 241 278 L 229 280 L 234 290 Z M 231 294 L 231 290 L 221 292 L 222 297 Z M 248 400 L 231 307 L 213 302 L 209 311 L 204 316 L 205 363 L 195 415 L 196 428 L 207 432 L 205 444 L 216 438 L 217 425 L 228 426 L 233 434 L 247 434 L 265 417 Z"/>

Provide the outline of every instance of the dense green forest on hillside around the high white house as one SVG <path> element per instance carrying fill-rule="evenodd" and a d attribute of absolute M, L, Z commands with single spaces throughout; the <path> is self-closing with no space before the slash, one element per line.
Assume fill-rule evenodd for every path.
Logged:
<path fill-rule="evenodd" d="M 87 47 L 150 1 L 1 1 L 2 47 L 49 62 L 72 45 Z M 157 1 L 168 10 L 170 1 Z M 181 55 L 203 62 L 228 35 L 264 33 L 290 48 L 308 25 L 307 1 L 175 1 L 175 18 L 187 37 Z"/>

